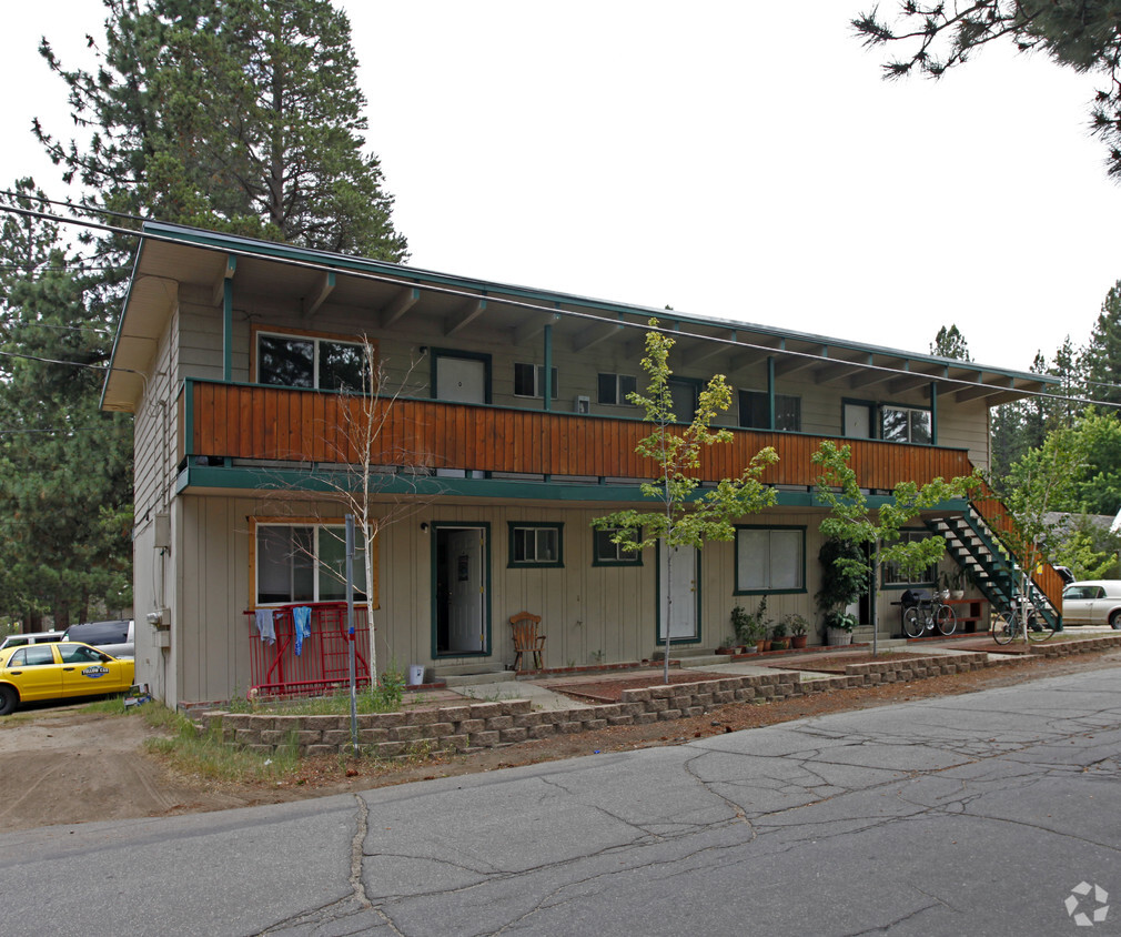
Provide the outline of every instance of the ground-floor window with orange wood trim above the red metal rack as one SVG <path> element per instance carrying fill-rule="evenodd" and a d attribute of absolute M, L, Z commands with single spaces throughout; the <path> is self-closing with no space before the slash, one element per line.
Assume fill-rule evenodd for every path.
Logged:
<path fill-rule="evenodd" d="M 346 599 L 346 531 L 343 525 L 258 522 L 257 605 L 342 602 Z M 365 551 L 354 550 L 354 597 L 365 601 Z"/>

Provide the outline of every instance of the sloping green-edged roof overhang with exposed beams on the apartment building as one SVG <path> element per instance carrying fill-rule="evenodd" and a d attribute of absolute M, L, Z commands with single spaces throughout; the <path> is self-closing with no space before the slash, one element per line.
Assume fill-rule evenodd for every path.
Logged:
<path fill-rule="evenodd" d="M 581 353 L 613 345 L 623 358 L 641 356 L 650 318 L 674 333 L 676 370 L 736 373 L 772 359 L 778 381 L 809 377 L 840 392 L 870 387 L 898 396 L 933 386 L 939 396 L 986 406 L 1046 391 L 1048 375 L 975 362 L 912 354 L 751 323 L 702 318 L 675 310 L 628 306 L 569 294 L 488 282 L 402 265 L 291 248 L 197 229 L 148 223 L 137 253 L 132 284 L 118 327 L 102 407 L 135 410 L 151 370 L 158 341 L 174 314 L 180 287 L 212 291 L 232 276 L 234 293 L 298 298 L 308 327 L 326 304 L 349 309 L 376 331 L 404 328 L 427 319 L 454 343 L 461 332 L 513 345 L 540 338 L 552 326 L 554 349 Z M 233 262 L 231 263 L 231 258 Z"/>

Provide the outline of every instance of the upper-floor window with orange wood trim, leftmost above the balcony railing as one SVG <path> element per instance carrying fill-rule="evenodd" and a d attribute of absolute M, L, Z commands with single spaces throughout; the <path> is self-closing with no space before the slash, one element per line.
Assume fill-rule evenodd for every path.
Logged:
<path fill-rule="evenodd" d="M 257 333 L 257 382 L 316 390 L 361 390 L 361 342 L 326 335 Z"/>

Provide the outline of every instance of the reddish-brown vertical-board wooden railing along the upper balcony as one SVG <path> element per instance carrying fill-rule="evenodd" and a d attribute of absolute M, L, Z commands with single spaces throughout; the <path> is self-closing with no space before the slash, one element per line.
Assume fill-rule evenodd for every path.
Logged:
<path fill-rule="evenodd" d="M 369 402 L 251 384 L 188 380 L 179 400 L 179 457 L 212 455 L 296 463 L 356 463 Z M 634 453 L 648 424 L 577 414 L 555 414 L 398 400 L 372 401 L 371 462 L 380 465 L 651 479 L 657 465 Z M 702 456 L 700 476 L 720 481 L 740 475 L 751 457 L 772 446 L 779 461 L 763 475 L 769 484 L 813 485 L 810 456 L 827 436 L 732 430 L 730 445 Z M 850 439 L 852 466 L 864 488 L 891 489 L 902 479 L 924 483 L 973 471 L 962 449 Z"/>

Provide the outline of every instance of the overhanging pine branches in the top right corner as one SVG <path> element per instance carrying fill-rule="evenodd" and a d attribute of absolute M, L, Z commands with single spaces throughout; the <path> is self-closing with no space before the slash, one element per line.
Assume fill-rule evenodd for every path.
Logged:
<path fill-rule="evenodd" d="M 1066 0 L 902 0 L 891 19 L 879 8 L 862 13 L 852 26 L 868 46 L 892 45 L 901 55 L 883 65 L 884 76 L 911 72 L 941 77 L 989 43 L 1011 41 L 1018 52 L 1043 52 L 1076 72 L 1099 74 L 1105 82 L 1092 110 L 1093 131 L 1109 147 L 1109 173 L 1121 176 L 1121 2 Z"/>

